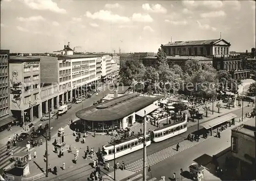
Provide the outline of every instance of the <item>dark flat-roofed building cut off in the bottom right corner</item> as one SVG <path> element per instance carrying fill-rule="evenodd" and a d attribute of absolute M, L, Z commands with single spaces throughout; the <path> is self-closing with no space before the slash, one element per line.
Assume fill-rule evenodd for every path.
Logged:
<path fill-rule="evenodd" d="M 255 179 L 255 120 L 231 130 L 231 163 L 239 180 Z"/>

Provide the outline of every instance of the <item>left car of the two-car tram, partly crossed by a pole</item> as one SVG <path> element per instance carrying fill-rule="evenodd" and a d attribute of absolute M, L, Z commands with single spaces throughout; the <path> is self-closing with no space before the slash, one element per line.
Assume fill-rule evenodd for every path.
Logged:
<path fill-rule="evenodd" d="M 143 138 L 143 135 L 140 135 Z M 131 152 L 137 151 L 143 148 L 143 140 L 138 139 L 139 137 L 131 136 L 121 140 L 115 140 L 115 150 L 114 143 L 109 143 L 104 145 L 103 158 L 105 161 L 114 160 L 114 152 L 115 158 L 122 157 L 125 154 L 129 154 Z M 151 136 L 146 135 L 146 146 L 151 144 Z"/>

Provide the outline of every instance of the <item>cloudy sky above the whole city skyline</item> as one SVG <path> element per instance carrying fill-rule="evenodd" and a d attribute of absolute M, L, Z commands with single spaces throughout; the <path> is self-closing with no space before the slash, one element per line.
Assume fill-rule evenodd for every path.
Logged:
<path fill-rule="evenodd" d="M 173 41 L 218 39 L 255 47 L 254 1 L 1 1 L 1 49 L 42 53 L 154 51 Z"/>

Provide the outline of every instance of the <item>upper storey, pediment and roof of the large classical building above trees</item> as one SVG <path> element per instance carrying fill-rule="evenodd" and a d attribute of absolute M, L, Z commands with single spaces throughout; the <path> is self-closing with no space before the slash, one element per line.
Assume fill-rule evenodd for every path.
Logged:
<path fill-rule="evenodd" d="M 167 56 L 214 56 L 228 55 L 230 43 L 224 39 L 175 41 L 161 44 Z"/>

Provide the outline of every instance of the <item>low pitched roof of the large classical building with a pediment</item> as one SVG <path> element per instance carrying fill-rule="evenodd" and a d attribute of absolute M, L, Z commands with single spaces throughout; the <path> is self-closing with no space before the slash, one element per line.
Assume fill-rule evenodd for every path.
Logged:
<path fill-rule="evenodd" d="M 213 39 L 213 40 L 192 40 L 192 41 L 175 41 L 175 42 L 168 42 L 167 44 L 161 46 L 194 46 L 194 45 L 209 45 L 215 44 L 218 41 L 223 39 Z M 225 41 L 225 40 L 223 40 Z M 226 41 L 225 41 L 226 42 Z M 228 42 L 226 42 L 228 43 Z"/>

